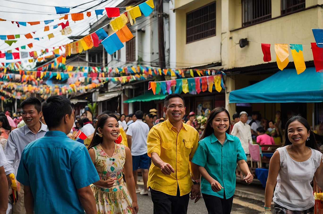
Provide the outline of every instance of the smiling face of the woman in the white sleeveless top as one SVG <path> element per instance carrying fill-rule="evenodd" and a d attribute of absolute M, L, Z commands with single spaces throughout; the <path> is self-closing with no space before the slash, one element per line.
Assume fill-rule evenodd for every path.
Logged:
<path fill-rule="evenodd" d="M 300 145 L 305 143 L 309 137 L 310 131 L 298 120 L 291 122 L 288 126 L 288 139 L 293 145 Z"/>

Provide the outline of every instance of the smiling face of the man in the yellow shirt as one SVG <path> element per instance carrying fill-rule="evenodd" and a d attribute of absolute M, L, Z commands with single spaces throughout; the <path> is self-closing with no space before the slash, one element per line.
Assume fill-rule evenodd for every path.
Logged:
<path fill-rule="evenodd" d="M 173 97 L 169 99 L 168 103 L 169 105 L 164 107 L 164 113 L 167 115 L 169 121 L 171 123 L 182 121 L 186 110 L 183 100 L 180 97 Z"/>

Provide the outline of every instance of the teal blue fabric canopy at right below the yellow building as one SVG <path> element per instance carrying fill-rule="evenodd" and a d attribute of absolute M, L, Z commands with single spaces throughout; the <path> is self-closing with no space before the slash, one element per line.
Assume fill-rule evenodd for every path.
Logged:
<path fill-rule="evenodd" d="M 323 73 L 315 67 L 297 75 L 284 69 L 256 84 L 231 91 L 229 103 L 318 103 L 323 102 Z"/>

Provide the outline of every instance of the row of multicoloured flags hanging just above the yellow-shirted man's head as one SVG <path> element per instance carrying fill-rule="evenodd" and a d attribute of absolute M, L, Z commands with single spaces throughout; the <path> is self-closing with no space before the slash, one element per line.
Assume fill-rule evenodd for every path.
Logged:
<path fill-rule="evenodd" d="M 192 95 L 200 94 L 201 92 L 209 91 L 212 93 L 213 89 L 221 92 L 225 89 L 223 72 L 211 76 L 201 76 L 193 78 L 175 79 L 167 81 L 149 82 L 148 90 L 152 90 L 156 94 L 172 94 L 190 93 Z"/>

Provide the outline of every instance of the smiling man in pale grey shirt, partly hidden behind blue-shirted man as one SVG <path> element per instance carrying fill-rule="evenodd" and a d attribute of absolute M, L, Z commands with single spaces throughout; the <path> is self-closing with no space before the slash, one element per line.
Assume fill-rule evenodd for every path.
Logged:
<path fill-rule="evenodd" d="M 7 175 L 9 185 L 11 184 L 9 174 L 15 173 L 15 169 L 18 168 L 19 162 L 17 163 L 17 160 L 20 160 L 25 146 L 31 141 L 43 137 L 48 131 L 47 126 L 39 121 L 43 112 L 41 111 L 41 102 L 36 97 L 27 97 L 20 106 L 22 108 L 22 118 L 26 125 L 11 131 L 4 150 L 8 161 L 5 166 L 5 174 Z M 16 205 L 13 205 L 12 211 L 13 214 L 26 213 L 23 185 L 21 185 L 18 192 L 18 201 Z"/>

